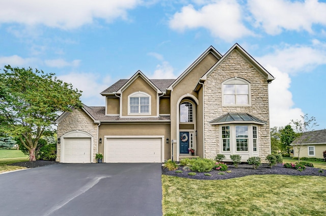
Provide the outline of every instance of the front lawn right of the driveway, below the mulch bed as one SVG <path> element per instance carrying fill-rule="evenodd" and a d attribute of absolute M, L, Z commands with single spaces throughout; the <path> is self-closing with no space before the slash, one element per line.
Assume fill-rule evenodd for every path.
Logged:
<path fill-rule="evenodd" d="M 195 180 L 162 175 L 163 215 L 326 215 L 326 178 L 251 175 Z"/>

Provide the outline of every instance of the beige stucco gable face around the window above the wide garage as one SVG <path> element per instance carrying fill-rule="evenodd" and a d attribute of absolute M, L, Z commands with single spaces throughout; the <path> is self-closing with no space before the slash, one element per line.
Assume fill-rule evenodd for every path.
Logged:
<path fill-rule="evenodd" d="M 140 76 L 122 92 L 122 116 L 128 116 L 128 96 L 138 91 L 151 96 L 151 116 L 157 116 L 157 91 Z"/>

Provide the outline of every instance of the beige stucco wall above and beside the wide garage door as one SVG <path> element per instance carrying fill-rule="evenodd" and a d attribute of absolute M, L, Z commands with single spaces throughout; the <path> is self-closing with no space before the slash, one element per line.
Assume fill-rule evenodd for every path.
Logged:
<path fill-rule="evenodd" d="M 102 124 L 99 127 L 99 138 L 104 136 L 164 136 L 170 138 L 170 124 Z M 170 143 L 164 143 L 164 158 L 170 159 Z M 104 142 L 98 146 L 99 152 L 104 152 Z M 105 153 L 105 152 L 104 152 Z"/>

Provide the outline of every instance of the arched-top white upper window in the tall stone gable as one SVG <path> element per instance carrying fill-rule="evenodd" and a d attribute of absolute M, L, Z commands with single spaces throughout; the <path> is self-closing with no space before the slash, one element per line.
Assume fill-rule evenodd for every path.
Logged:
<path fill-rule="evenodd" d="M 231 78 L 222 83 L 223 106 L 249 106 L 250 83 L 242 78 Z"/>

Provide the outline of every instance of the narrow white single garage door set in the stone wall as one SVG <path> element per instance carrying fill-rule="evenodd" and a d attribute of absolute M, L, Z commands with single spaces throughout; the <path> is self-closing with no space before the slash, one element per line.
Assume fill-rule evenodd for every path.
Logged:
<path fill-rule="evenodd" d="M 64 138 L 64 163 L 91 163 L 91 138 Z"/>

